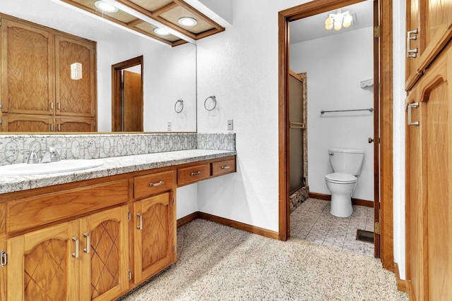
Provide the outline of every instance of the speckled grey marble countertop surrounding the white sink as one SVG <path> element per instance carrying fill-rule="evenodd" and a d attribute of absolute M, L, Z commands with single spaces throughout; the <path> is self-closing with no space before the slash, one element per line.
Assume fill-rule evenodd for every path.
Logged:
<path fill-rule="evenodd" d="M 233 156 L 235 151 L 212 149 L 189 149 L 176 152 L 138 154 L 133 156 L 114 156 L 102 158 L 104 164 L 95 168 L 64 173 L 49 173 L 32 176 L 0 176 L 0 194 L 32 188 L 90 180 L 121 173 L 143 171 L 146 169 L 174 166 L 208 159 Z"/>

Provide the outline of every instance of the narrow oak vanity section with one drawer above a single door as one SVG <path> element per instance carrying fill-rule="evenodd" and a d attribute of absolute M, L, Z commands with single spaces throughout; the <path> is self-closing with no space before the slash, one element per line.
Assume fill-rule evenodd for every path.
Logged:
<path fill-rule="evenodd" d="M 134 178 L 133 283 L 176 261 L 176 183 L 174 171 Z M 144 197 L 144 198 L 143 198 Z"/>

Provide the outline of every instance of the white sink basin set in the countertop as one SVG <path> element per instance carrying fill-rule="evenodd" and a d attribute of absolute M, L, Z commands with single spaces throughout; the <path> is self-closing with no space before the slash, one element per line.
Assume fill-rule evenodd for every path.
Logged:
<path fill-rule="evenodd" d="M 64 173 L 66 171 L 80 171 L 83 169 L 101 166 L 104 161 L 101 159 L 76 159 L 61 160 L 58 162 L 38 163 L 38 164 L 12 164 L 0 166 L 0 176 L 29 176 L 44 173 Z"/>

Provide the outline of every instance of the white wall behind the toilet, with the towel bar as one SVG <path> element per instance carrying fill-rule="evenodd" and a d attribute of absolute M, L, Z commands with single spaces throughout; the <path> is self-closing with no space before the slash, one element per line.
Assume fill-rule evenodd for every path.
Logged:
<path fill-rule="evenodd" d="M 373 75 L 373 27 L 290 45 L 290 69 L 307 72 L 309 192 L 331 195 L 325 175 L 333 172 L 328 148 L 364 150 L 352 197 L 374 200 L 374 113 L 321 110 L 374 107 L 374 87 L 360 86 Z"/>

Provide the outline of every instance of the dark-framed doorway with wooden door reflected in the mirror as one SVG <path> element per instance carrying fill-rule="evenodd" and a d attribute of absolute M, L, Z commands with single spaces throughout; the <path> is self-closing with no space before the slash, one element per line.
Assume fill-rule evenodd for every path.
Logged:
<path fill-rule="evenodd" d="M 112 66 L 112 131 L 143 132 L 143 56 Z"/>

